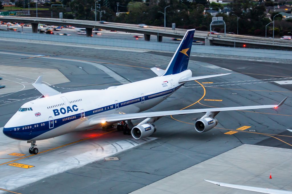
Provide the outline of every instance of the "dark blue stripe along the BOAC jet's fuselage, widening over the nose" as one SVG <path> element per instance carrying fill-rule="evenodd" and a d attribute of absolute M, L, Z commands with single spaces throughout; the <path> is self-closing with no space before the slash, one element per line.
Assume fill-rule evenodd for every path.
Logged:
<path fill-rule="evenodd" d="M 165 90 L 162 92 L 157 92 L 155 94 L 146 95 L 146 96 L 144 96 L 144 101 L 172 94 L 174 91 L 176 91 L 180 87 L 181 87 L 181 85 L 178 87 L 175 87 L 174 89 L 168 89 L 168 90 Z M 132 105 L 135 103 L 141 103 L 141 101 L 142 101 L 142 96 L 139 98 L 133 98 L 131 100 L 119 102 L 119 108 L 125 107 L 128 105 Z M 102 112 L 106 112 L 109 110 L 115 110 L 115 109 L 116 109 L 115 104 L 111 104 L 108 106 L 99 107 L 99 108 L 96 108 L 93 110 L 86 111 L 86 112 L 84 112 L 84 114 L 85 114 L 85 117 L 88 117 L 88 116 L 92 116 L 95 114 L 99 114 Z M 96 112 L 93 112 L 93 111 L 96 111 Z M 68 119 L 68 118 L 70 118 L 70 119 Z M 50 121 L 44 121 L 41 123 L 35 123 L 35 124 L 31 124 L 31 125 L 3 128 L 3 132 L 5 131 L 4 133 L 6 133 L 7 135 L 10 135 L 11 137 L 18 139 L 18 140 L 30 140 L 30 139 L 33 139 L 34 137 L 37 137 L 43 133 L 48 132 L 54 128 L 60 127 L 62 125 L 65 125 L 71 121 L 78 120 L 78 119 L 81 119 L 81 113 L 77 113 L 77 114 L 70 115 L 67 117 L 62 117 L 59 119 L 54 119 L 53 120 L 54 126 L 52 128 L 49 128 Z M 41 126 L 41 124 L 44 124 L 44 125 Z M 38 127 L 34 127 L 34 125 L 38 125 Z M 29 126 L 31 126 L 31 128 L 29 128 Z M 25 127 L 27 127 L 27 128 L 25 129 Z M 16 130 L 14 130 L 14 128 L 16 128 Z M 17 128 L 19 128 L 19 129 L 17 130 Z M 24 129 L 22 129 L 22 128 L 24 128 Z M 21 133 L 18 133 L 20 131 L 21 131 Z"/>

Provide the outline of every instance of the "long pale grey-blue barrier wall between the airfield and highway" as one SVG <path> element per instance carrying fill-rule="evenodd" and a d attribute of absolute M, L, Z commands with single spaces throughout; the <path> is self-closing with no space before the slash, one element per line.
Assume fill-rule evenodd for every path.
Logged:
<path fill-rule="evenodd" d="M 60 36 L 49 34 L 33 34 L 33 33 L 19 33 L 0 31 L 1 38 L 18 38 L 26 39 L 36 43 L 36 41 L 50 41 L 54 43 L 72 43 L 83 45 L 101 45 L 119 48 L 134 48 L 146 51 L 162 51 L 175 52 L 178 44 L 175 43 L 158 43 L 145 42 L 140 40 L 122 40 L 122 39 L 108 39 L 108 38 L 89 38 L 85 36 Z M 216 55 L 232 55 L 243 57 L 269 58 L 269 59 L 292 59 L 291 51 L 279 50 L 264 50 L 264 49 L 247 49 L 247 48 L 233 48 L 233 47 L 219 47 L 219 46 L 203 46 L 192 45 L 191 54 L 216 54 Z"/>

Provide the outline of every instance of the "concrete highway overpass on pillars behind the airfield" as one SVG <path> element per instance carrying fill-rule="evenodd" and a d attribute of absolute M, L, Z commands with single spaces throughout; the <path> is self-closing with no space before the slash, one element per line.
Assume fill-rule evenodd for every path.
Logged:
<path fill-rule="evenodd" d="M 86 34 L 88 37 L 92 35 L 93 28 L 101 28 L 106 30 L 117 30 L 132 33 L 144 34 L 145 40 L 150 40 L 150 35 L 157 36 L 157 41 L 161 41 L 162 37 L 182 38 L 186 32 L 186 29 L 175 29 L 166 28 L 164 31 L 163 27 L 150 26 L 149 28 L 141 28 L 136 24 L 121 24 L 112 23 L 101 24 L 100 22 L 88 21 L 88 20 L 68 20 L 58 18 L 41 18 L 41 17 L 16 17 L 16 16 L 5 16 L 1 17 L 1 21 L 4 22 L 23 22 L 31 23 L 32 31 L 37 33 L 37 26 L 41 24 L 49 25 L 72 25 L 75 27 L 86 28 Z M 196 31 L 194 38 L 197 40 L 205 41 L 205 45 L 229 45 L 242 47 L 246 44 L 250 48 L 264 48 L 264 49 L 280 49 L 280 50 L 292 50 L 291 40 L 281 40 L 275 38 L 274 42 L 271 38 L 262 38 L 256 36 L 243 36 L 234 34 L 220 34 L 220 35 L 208 35 L 207 31 Z"/>

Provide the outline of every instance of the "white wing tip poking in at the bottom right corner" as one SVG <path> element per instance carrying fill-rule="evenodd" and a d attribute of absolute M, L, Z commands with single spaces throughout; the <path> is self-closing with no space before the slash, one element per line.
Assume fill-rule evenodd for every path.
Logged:
<path fill-rule="evenodd" d="M 204 179 L 205 180 L 205 179 Z M 260 188 L 260 187 L 251 187 L 251 186 L 244 186 L 244 185 L 233 185 L 227 183 L 219 183 L 215 181 L 208 181 L 209 183 L 213 183 L 223 187 L 230 187 L 230 188 L 237 188 L 246 191 L 255 191 L 259 193 L 268 193 L 268 194 L 292 194 L 292 191 L 284 191 L 284 190 L 277 190 L 277 189 L 268 189 L 268 188 Z"/>

